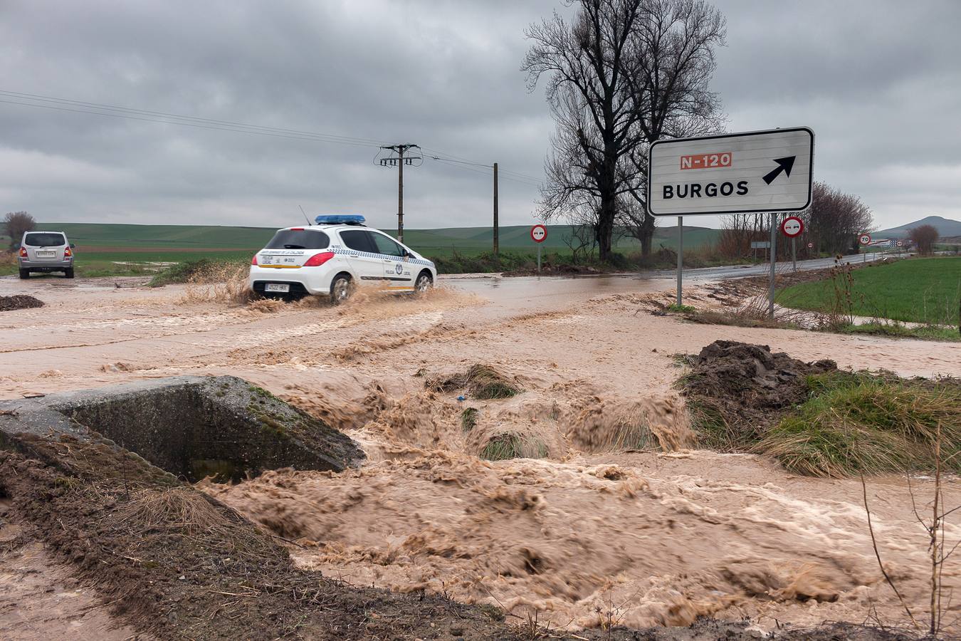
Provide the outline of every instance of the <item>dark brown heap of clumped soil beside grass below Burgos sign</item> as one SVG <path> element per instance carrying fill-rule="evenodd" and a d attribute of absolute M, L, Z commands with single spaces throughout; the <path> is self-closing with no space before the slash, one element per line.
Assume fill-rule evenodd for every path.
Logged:
<path fill-rule="evenodd" d="M 681 380 L 699 434 L 718 449 L 744 449 L 776 424 L 783 410 L 806 400 L 804 377 L 837 369 L 833 360 L 804 362 L 767 345 L 716 340 L 694 359 Z"/>

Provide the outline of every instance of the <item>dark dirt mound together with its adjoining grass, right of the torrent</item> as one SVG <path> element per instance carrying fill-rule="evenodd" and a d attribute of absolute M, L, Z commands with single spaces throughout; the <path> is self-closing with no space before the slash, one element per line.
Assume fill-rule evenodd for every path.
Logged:
<path fill-rule="evenodd" d="M 678 386 L 702 447 L 818 477 L 961 472 L 961 381 L 900 379 L 716 341 Z"/>

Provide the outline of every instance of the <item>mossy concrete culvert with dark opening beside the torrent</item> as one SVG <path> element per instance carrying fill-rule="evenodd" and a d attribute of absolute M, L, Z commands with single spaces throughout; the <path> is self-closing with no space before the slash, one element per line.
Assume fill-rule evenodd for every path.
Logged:
<path fill-rule="evenodd" d="M 239 481 L 282 467 L 341 471 L 364 457 L 348 436 L 234 377 L 176 377 L 0 406 L 13 412 L 0 439 L 14 446 L 25 434 L 102 435 L 188 481 Z"/>

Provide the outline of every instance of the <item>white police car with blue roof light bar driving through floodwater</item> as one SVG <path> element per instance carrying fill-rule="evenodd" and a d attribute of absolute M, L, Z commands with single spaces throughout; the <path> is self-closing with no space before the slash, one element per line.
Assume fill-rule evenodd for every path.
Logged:
<path fill-rule="evenodd" d="M 433 263 L 359 215 L 317 216 L 315 225 L 278 230 L 251 260 L 251 289 L 264 296 L 330 296 L 334 304 L 362 283 L 422 293 L 437 278 Z"/>

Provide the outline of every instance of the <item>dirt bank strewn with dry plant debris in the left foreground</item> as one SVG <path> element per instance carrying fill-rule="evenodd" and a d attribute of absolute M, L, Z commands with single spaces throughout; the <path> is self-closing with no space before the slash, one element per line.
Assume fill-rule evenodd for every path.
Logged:
<path fill-rule="evenodd" d="M 0 451 L 0 495 L 137 630 L 164 639 L 512 637 L 494 608 L 298 570 L 233 509 L 159 484 L 142 459 L 102 445 L 41 446 L 57 451 L 60 469 Z M 93 450 L 102 465 L 86 465 Z M 121 469 L 122 479 L 101 474 Z"/>

